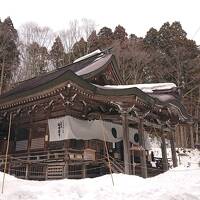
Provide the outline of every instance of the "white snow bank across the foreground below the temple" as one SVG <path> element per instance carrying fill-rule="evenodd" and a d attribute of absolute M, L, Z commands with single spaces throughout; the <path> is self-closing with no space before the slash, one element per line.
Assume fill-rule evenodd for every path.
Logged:
<path fill-rule="evenodd" d="M 154 178 L 113 174 L 94 179 L 26 181 L 6 176 L 1 200 L 198 200 L 200 168 L 177 168 Z M 2 173 L 0 174 L 2 180 Z"/>

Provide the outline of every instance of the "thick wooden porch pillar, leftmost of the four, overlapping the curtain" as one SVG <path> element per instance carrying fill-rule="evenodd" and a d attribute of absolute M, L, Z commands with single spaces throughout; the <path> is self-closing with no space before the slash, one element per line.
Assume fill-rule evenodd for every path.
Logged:
<path fill-rule="evenodd" d="M 122 127 L 123 127 L 123 147 L 124 147 L 124 171 L 125 174 L 130 174 L 130 143 L 129 143 L 129 128 L 128 128 L 128 113 L 122 113 Z"/>

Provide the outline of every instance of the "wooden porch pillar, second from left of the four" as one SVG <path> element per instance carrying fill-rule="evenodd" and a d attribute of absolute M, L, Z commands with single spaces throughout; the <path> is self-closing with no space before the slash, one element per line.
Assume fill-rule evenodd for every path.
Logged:
<path fill-rule="evenodd" d="M 146 152 L 145 152 L 145 137 L 144 137 L 144 124 L 143 118 L 139 118 L 139 144 L 142 147 L 140 150 L 140 162 L 141 162 L 141 175 L 143 178 L 147 178 L 147 163 L 146 163 Z"/>

